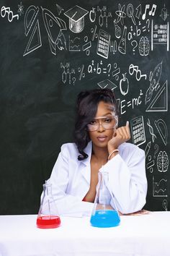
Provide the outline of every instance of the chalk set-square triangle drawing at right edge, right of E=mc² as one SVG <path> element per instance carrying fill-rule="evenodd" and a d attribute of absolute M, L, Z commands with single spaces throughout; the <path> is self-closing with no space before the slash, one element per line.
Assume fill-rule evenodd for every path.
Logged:
<path fill-rule="evenodd" d="M 168 82 L 164 82 L 164 85 L 158 90 L 156 96 L 153 98 L 146 112 L 154 111 L 168 111 Z"/>

